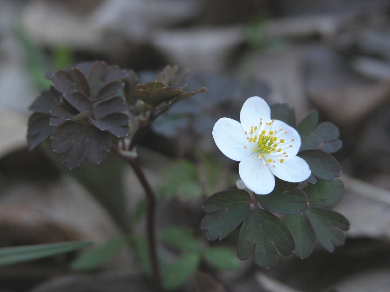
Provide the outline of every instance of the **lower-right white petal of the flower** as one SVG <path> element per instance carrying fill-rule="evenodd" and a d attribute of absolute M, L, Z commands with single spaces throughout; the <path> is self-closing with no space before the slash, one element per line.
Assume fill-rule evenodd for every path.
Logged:
<path fill-rule="evenodd" d="M 306 161 L 294 155 L 284 158 L 283 163 L 279 162 L 278 159 L 274 165 L 275 167 L 269 168 L 273 174 L 278 178 L 283 179 L 284 181 L 290 181 L 291 183 L 304 181 L 312 173 Z"/>

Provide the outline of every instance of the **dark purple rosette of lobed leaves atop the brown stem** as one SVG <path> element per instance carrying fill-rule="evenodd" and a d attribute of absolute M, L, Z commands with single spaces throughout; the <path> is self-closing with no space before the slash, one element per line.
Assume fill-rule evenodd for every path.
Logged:
<path fill-rule="evenodd" d="M 108 132 L 117 137 L 129 134 L 130 105 L 114 96 L 124 87 L 126 70 L 105 62 L 83 62 L 45 75 L 53 83 L 29 107 L 30 149 L 51 135 L 53 151 L 72 169 L 85 155 L 100 163 L 111 148 Z"/>

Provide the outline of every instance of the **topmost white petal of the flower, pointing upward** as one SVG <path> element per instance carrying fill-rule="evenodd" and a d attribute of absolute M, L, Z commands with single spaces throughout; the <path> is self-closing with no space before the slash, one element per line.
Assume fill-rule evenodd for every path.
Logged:
<path fill-rule="evenodd" d="M 260 118 L 265 122 L 271 120 L 271 109 L 264 99 L 258 96 L 247 99 L 241 108 L 240 121 L 245 131 L 250 131 L 250 126 L 259 125 Z"/>

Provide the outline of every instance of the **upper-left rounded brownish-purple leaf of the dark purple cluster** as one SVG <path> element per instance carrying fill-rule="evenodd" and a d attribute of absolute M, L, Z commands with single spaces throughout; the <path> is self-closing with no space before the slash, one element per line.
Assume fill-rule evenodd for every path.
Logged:
<path fill-rule="evenodd" d="M 91 93 L 87 79 L 83 72 L 77 68 L 59 70 L 47 78 L 53 81 L 54 88 L 61 93 L 73 92 L 74 90 L 81 91 L 87 96 Z"/>

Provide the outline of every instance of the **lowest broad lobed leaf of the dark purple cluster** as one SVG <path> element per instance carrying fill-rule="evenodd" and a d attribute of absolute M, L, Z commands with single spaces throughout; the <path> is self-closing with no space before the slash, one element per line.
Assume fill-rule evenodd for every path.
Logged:
<path fill-rule="evenodd" d="M 51 140 L 53 151 L 62 153 L 61 160 L 69 169 L 80 165 L 85 155 L 94 163 L 102 162 L 111 147 L 108 132 L 73 121 L 58 127 Z"/>

